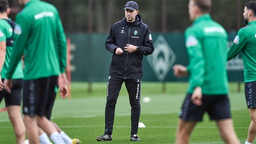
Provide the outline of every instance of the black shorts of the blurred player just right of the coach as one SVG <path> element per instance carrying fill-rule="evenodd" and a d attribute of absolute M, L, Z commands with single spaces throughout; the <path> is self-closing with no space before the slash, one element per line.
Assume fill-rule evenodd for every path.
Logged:
<path fill-rule="evenodd" d="M 192 94 L 187 94 L 179 117 L 188 121 L 202 121 L 204 112 L 207 112 L 210 120 L 231 118 L 230 103 L 227 94 L 202 95 L 202 105 L 195 105 L 191 100 Z"/>

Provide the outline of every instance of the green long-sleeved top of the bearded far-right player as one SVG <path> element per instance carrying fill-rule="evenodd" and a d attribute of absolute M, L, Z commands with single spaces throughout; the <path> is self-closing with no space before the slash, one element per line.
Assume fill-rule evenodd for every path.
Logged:
<path fill-rule="evenodd" d="M 240 51 L 244 66 L 244 82 L 256 81 L 256 21 L 250 21 L 247 26 L 238 30 L 232 46 L 227 50 L 228 60 Z"/>

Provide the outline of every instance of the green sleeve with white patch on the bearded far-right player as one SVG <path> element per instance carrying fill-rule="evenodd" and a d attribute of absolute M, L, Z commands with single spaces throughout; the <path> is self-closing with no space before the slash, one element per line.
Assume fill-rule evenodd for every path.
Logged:
<path fill-rule="evenodd" d="M 241 51 L 246 41 L 245 31 L 240 29 L 233 40 L 233 44 L 227 49 L 227 60 L 235 57 Z"/>

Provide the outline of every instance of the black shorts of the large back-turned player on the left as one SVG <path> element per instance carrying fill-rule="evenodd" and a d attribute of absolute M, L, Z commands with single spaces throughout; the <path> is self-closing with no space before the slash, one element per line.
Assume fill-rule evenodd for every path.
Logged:
<path fill-rule="evenodd" d="M 57 76 L 44 77 L 23 82 L 23 114 L 46 116 L 51 108 L 52 95 Z"/>

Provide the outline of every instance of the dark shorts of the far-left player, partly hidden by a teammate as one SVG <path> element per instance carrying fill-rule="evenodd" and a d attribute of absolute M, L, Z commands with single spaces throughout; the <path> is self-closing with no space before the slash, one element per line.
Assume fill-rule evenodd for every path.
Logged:
<path fill-rule="evenodd" d="M 1 79 L 3 81 L 3 79 Z M 19 105 L 21 103 L 22 79 L 12 79 L 11 93 L 0 91 L 0 97 L 4 98 L 5 106 Z"/>

